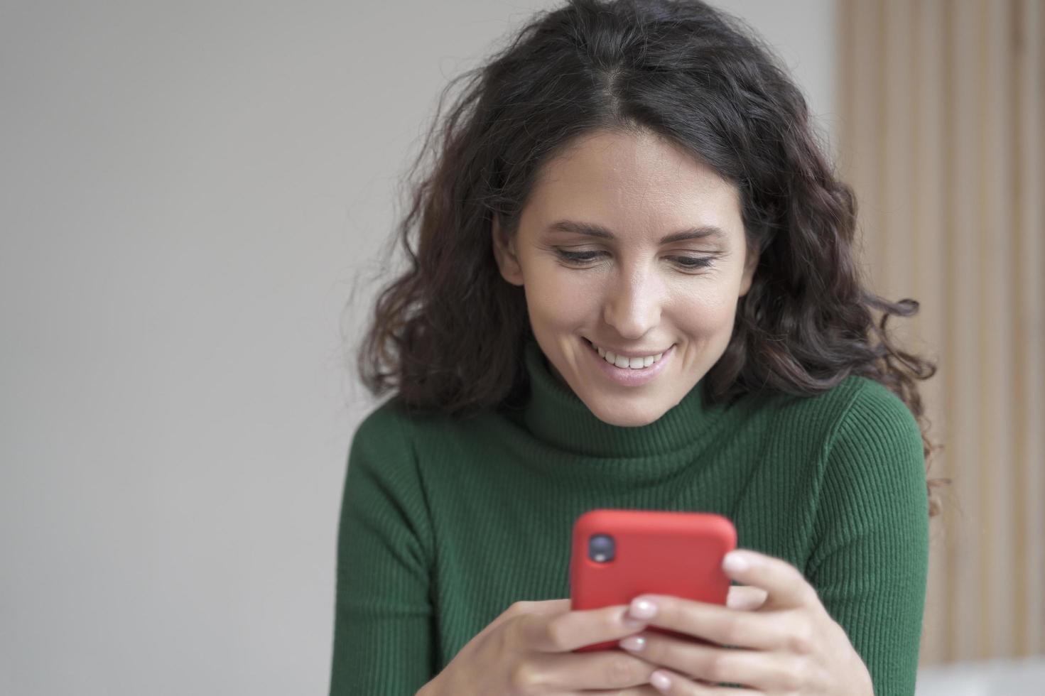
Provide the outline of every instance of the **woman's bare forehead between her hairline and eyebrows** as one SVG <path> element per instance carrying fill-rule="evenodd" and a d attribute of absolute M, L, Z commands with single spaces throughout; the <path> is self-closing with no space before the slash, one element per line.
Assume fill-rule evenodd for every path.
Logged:
<path fill-rule="evenodd" d="M 541 168 L 528 213 L 541 229 L 570 218 L 628 236 L 700 226 L 743 234 L 736 185 L 648 132 L 599 132 L 571 143 Z"/>

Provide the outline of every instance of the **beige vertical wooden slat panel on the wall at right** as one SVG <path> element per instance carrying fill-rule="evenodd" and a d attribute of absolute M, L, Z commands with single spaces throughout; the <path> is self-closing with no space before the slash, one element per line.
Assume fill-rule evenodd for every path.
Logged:
<path fill-rule="evenodd" d="M 922 664 L 1045 653 L 1045 8 L 842 0 L 842 176 L 872 288 L 922 382 L 931 530 Z"/>

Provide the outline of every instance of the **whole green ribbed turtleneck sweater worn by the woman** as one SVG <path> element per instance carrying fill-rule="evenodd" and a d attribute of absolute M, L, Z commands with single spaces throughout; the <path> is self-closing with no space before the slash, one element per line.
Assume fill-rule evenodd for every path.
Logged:
<path fill-rule="evenodd" d="M 738 548 L 799 569 L 875 694 L 914 693 L 929 555 L 918 422 L 877 381 L 814 397 L 599 420 L 532 340 L 522 409 L 359 424 L 338 538 L 332 696 L 412 695 L 517 600 L 570 597 L 574 520 L 593 508 L 716 512 Z"/>

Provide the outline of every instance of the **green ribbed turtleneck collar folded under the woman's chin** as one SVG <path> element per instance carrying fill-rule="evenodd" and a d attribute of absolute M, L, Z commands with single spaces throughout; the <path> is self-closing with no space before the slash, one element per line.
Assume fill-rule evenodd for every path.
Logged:
<path fill-rule="evenodd" d="M 600 420 L 568 386 L 560 382 L 536 341 L 525 348 L 530 397 L 522 420 L 539 440 L 575 455 L 642 458 L 669 455 L 706 438 L 724 407 L 703 402 L 703 379 L 682 400 L 647 425 L 612 425 Z"/>

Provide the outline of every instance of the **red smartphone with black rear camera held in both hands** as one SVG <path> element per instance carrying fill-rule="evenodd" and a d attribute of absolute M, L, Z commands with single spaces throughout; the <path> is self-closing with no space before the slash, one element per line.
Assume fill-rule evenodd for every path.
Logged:
<path fill-rule="evenodd" d="M 719 514 L 589 510 L 574 523 L 570 608 L 630 604 L 644 593 L 725 604 L 730 580 L 722 557 L 736 548 L 737 530 Z M 646 630 L 706 643 L 659 626 Z M 608 641 L 574 652 L 609 648 L 623 649 Z"/>

